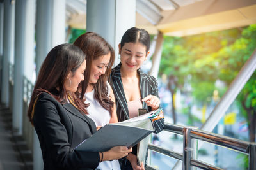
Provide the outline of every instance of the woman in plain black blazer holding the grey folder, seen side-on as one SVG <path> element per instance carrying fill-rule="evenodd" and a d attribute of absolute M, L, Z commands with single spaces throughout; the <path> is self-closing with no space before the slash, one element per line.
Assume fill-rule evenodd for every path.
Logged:
<path fill-rule="evenodd" d="M 107 152 L 83 152 L 74 148 L 96 132 L 86 104 L 74 92 L 84 80 L 85 55 L 74 45 L 54 47 L 40 68 L 31 96 L 28 117 L 40 141 L 44 169 L 95 169 L 99 162 L 131 152 L 116 146 Z"/>

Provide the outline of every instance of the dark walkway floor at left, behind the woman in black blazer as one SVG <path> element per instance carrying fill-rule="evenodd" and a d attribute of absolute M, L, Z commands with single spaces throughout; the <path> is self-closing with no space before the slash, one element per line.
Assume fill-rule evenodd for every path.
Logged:
<path fill-rule="evenodd" d="M 32 169 L 31 152 L 24 148 L 22 137 L 13 135 L 12 113 L 0 104 L 0 170 Z"/>

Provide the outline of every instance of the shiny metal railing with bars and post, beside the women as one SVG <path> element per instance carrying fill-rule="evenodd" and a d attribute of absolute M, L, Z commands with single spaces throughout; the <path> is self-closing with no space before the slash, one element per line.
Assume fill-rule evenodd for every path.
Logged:
<path fill-rule="evenodd" d="M 193 157 L 193 152 L 197 152 L 197 150 L 193 148 L 193 143 L 191 143 L 192 139 L 206 141 L 208 143 L 223 146 L 236 152 L 245 153 L 246 155 L 249 155 L 249 169 L 256 169 L 255 142 L 250 143 L 247 141 L 230 138 L 228 136 L 214 134 L 212 132 L 202 131 L 197 129 L 197 127 L 186 127 L 169 123 L 165 123 L 163 130 L 183 135 L 183 154 L 150 143 L 148 144 L 148 149 L 162 153 L 168 157 L 173 157 L 177 160 L 182 160 L 182 169 L 191 169 L 191 166 L 198 167 L 200 169 L 221 169 L 220 167 L 207 164 L 206 162 L 197 160 Z M 154 167 L 147 165 L 147 169 L 154 169 Z"/>

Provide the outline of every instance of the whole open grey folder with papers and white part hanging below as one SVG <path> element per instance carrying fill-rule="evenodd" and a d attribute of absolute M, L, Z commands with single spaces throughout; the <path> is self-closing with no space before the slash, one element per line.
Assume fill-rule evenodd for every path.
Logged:
<path fill-rule="evenodd" d="M 137 150 L 138 164 L 141 165 L 141 162 L 145 162 L 148 135 L 155 130 L 153 121 L 160 118 L 163 118 L 163 110 L 161 108 L 123 122 L 107 124 L 90 138 L 76 146 L 74 150 L 105 152 L 114 146 L 127 146 L 127 148 L 130 148 L 141 141 Z"/>

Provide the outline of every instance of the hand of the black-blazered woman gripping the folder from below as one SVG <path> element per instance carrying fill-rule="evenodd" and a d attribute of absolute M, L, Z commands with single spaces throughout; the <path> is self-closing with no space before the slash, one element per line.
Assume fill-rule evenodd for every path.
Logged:
<path fill-rule="evenodd" d="M 132 148 L 127 148 L 126 146 L 115 146 L 110 150 L 103 152 L 102 161 L 120 159 L 127 156 L 130 152 L 132 152 Z"/>

